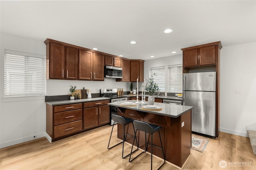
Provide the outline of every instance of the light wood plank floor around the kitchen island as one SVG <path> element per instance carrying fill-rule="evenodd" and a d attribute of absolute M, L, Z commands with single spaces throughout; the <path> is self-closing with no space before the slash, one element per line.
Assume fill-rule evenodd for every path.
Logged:
<path fill-rule="evenodd" d="M 49 143 L 40 138 L 26 143 L 0 149 L 1 170 L 148 170 L 150 154 L 142 154 L 133 162 L 122 159 L 122 145 L 108 150 L 110 126 Z M 116 127 L 114 128 L 116 134 Z M 191 149 L 191 154 L 182 169 L 186 170 L 255 170 L 256 156 L 252 152 L 249 138 L 228 133 L 220 133 L 219 139 L 209 139 L 204 152 Z M 118 142 L 116 135 L 113 143 Z M 126 153 L 131 146 L 126 145 Z M 140 152 L 140 151 L 138 151 Z M 174 155 L 175 156 L 175 155 Z M 220 168 L 219 162 L 225 160 L 226 168 Z M 248 166 L 238 166 L 247 162 Z M 153 169 L 162 163 L 153 157 Z M 232 163 L 231 166 L 229 163 Z M 172 164 L 164 164 L 161 170 L 180 169 Z"/>

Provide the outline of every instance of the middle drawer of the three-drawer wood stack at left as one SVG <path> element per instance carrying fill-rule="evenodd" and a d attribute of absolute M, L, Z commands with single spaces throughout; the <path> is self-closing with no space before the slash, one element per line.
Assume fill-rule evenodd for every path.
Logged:
<path fill-rule="evenodd" d="M 82 120 L 82 109 L 54 113 L 54 125 Z"/>

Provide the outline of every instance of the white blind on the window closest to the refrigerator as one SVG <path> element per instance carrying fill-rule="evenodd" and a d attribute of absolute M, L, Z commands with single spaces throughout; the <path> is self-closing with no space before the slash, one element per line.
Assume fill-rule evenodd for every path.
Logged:
<path fill-rule="evenodd" d="M 182 65 L 168 66 L 168 92 L 182 93 Z"/>

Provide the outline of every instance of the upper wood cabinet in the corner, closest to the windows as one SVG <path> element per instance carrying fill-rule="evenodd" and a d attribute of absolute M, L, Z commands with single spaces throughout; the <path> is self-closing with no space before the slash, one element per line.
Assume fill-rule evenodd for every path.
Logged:
<path fill-rule="evenodd" d="M 130 81 L 144 81 L 144 60 L 131 60 L 130 63 Z"/>

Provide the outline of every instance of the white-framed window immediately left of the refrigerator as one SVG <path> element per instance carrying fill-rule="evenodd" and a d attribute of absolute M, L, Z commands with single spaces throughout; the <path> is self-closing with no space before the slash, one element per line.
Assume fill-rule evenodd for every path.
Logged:
<path fill-rule="evenodd" d="M 178 71 L 178 73 L 180 73 L 177 77 L 173 77 L 175 80 L 174 81 L 177 81 L 177 82 L 175 82 L 174 84 L 176 84 L 176 85 L 173 85 L 172 87 L 171 87 L 171 79 L 172 79 L 172 77 L 171 77 L 171 68 L 174 68 L 174 67 L 179 67 L 179 69 L 177 70 Z M 176 64 L 176 65 L 169 65 L 168 66 L 168 92 L 170 92 L 170 93 L 182 93 L 182 76 L 183 76 L 183 74 L 182 74 L 182 64 Z M 175 88 L 176 90 L 171 90 L 171 88 Z"/>

